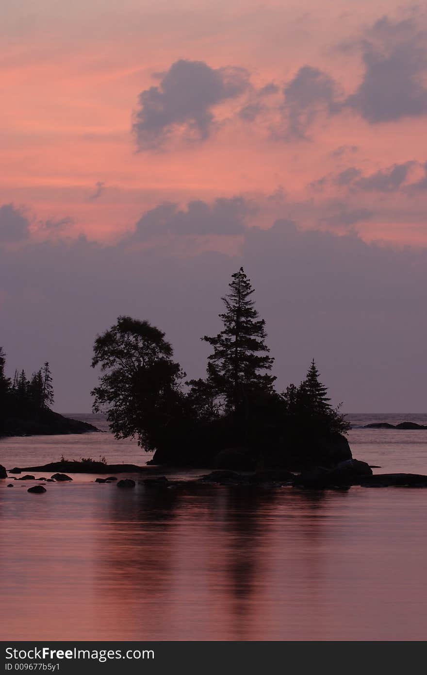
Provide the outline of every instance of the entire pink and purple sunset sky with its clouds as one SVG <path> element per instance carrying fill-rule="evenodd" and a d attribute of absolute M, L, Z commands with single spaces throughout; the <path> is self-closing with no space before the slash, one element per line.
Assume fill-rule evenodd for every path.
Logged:
<path fill-rule="evenodd" d="M 90 410 L 118 315 L 189 377 L 244 269 L 277 386 L 424 412 L 427 15 L 395 0 L 3 0 L 0 344 Z"/>

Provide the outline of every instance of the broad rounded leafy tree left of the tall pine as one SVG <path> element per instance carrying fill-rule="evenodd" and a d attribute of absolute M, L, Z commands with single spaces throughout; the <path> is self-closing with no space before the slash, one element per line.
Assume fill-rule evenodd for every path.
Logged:
<path fill-rule="evenodd" d="M 94 342 L 92 367 L 101 366 L 92 391 L 94 412 L 106 412 L 117 438 L 136 436 L 146 450 L 156 450 L 173 435 L 183 417 L 181 379 L 165 333 L 122 316 Z"/>

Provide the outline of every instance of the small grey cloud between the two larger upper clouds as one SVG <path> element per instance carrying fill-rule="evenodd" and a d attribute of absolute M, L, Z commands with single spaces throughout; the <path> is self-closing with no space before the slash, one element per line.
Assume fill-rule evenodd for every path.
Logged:
<path fill-rule="evenodd" d="M 304 65 L 283 89 L 282 111 L 287 117 L 287 138 L 305 139 L 319 113 L 337 113 L 337 84 L 328 74 Z"/>

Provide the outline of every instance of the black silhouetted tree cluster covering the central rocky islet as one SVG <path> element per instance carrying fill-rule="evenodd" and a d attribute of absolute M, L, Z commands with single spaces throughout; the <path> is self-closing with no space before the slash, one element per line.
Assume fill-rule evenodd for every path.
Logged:
<path fill-rule="evenodd" d="M 331 406 L 314 360 L 300 385 L 276 391 L 265 321 L 243 268 L 229 288 L 223 329 L 202 338 L 212 347 L 204 379 L 186 380 L 165 333 L 148 321 L 121 316 L 99 335 L 94 412 L 107 413 L 117 438 L 136 436 L 156 450 L 159 462 L 202 465 L 230 447 L 249 450 L 254 462 L 310 462 L 349 424 Z"/>

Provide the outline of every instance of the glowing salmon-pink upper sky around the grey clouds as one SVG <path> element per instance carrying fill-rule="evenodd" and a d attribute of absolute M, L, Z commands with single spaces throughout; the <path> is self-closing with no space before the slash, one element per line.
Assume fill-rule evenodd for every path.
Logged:
<path fill-rule="evenodd" d="M 391 59 L 386 82 L 396 87 L 397 104 L 399 78 L 413 74 L 427 86 L 427 52 L 414 47 L 426 20 L 411 5 L 124 0 L 117 9 L 112 0 L 72 7 L 7 0 L 2 13 L 0 204 L 25 209 L 36 238 L 47 236 L 45 221 L 67 219 L 54 236 L 111 240 L 165 200 L 183 206 L 242 195 L 258 203 L 248 225 L 292 217 L 303 228 L 351 226 L 366 240 L 426 243 L 427 190 L 405 189 L 422 178 L 427 159 L 423 111 L 372 123 L 348 105 L 331 113 L 322 99 L 304 111 L 313 112 L 307 138 L 287 135 L 289 109 L 283 112 L 283 87 L 305 65 L 335 80 L 341 103 L 354 94 L 366 75 L 366 41 L 382 59 L 402 45 L 403 76 Z M 373 28 L 386 15 L 385 28 Z M 161 147 L 137 152 L 138 95 L 161 86 L 159 74 L 179 59 L 246 69 L 251 86 L 210 106 L 208 138 L 188 142 L 186 122 L 177 123 Z M 271 82 L 278 91 L 264 97 L 262 113 L 242 120 L 242 107 Z M 413 164 L 396 189 L 337 185 L 349 167 L 366 178 L 407 162 Z M 281 198 L 268 199 L 278 190 Z M 337 204 L 338 211 L 364 209 L 366 217 L 340 221 Z"/>

